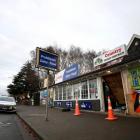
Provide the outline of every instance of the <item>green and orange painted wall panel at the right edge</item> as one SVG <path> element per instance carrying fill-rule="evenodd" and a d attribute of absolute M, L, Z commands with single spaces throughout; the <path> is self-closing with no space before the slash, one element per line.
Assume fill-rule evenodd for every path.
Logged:
<path fill-rule="evenodd" d="M 140 65 L 128 68 L 126 76 L 128 114 L 140 115 Z"/>

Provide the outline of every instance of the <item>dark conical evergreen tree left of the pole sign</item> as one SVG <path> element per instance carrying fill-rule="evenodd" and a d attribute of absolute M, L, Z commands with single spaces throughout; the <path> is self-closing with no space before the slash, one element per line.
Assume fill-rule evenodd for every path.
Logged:
<path fill-rule="evenodd" d="M 14 77 L 12 84 L 7 86 L 9 94 L 30 97 L 39 90 L 39 78 L 37 72 L 32 69 L 30 62 L 24 64 L 20 72 Z"/>

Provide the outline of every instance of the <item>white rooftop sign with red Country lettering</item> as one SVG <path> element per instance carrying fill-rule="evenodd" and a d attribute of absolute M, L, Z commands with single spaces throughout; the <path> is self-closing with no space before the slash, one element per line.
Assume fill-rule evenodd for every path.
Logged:
<path fill-rule="evenodd" d="M 120 47 L 107 51 L 103 53 L 102 55 L 94 58 L 94 66 L 96 67 L 96 66 L 108 63 L 112 60 L 123 57 L 125 55 L 127 55 L 126 45 L 121 45 Z"/>

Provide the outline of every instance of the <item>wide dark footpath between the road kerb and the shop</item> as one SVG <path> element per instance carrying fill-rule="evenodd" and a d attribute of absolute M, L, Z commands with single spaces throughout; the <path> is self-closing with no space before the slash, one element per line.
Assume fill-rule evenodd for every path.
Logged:
<path fill-rule="evenodd" d="M 119 116 L 118 120 L 105 120 L 106 115 L 73 111 L 62 112 L 50 108 L 45 121 L 44 106 L 17 106 L 17 115 L 23 119 L 42 140 L 138 140 L 140 118 Z"/>

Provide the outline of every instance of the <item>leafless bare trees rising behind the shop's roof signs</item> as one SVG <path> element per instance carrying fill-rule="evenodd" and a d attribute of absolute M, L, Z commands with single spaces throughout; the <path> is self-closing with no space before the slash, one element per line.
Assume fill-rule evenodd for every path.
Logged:
<path fill-rule="evenodd" d="M 58 54 L 58 72 L 69 67 L 72 64 L 78 64 L 80 75 L 94 70 L 93 59 L 96 57 L 95 51 L 83 53 L 80 47 L 72 45 L 68 51 L 58 48 L 57 46 L 48 46 L 45 48 L 51 53 Z M 35 52 L 31 52 L 32 63 L 35 64 Z"/>

